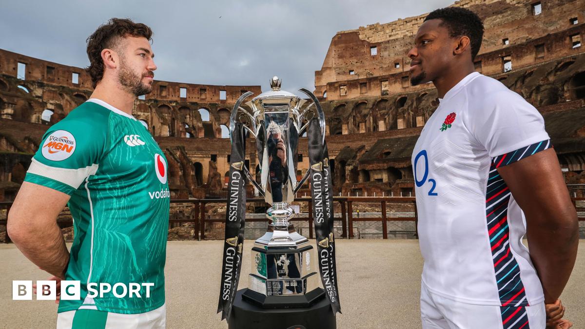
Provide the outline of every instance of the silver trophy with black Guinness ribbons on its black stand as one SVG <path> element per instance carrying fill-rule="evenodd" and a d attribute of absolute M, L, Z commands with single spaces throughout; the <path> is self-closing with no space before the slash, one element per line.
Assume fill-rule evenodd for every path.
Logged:
<path fill-rule="evenodd" d="M 340 312 L 333 239 L 331 170 L 325 143 L 325 116 L 312 92 L 309 100 L 280 90 L 273 77 L 271 90 L 254 97 L 243 94 L 230 117 L 232 142 L 226 208 L 225 242 L 218 313 L 229 328 L 335 328 Z M 297 181 L 298 141 L 307 131 L 309 164 Z M 256 139 L 261 181 L 245 164 L 246 132 Z M 288 206 L 305 181 L 311 182 L 312 214 L 317 243 L 313 246 L 295 231 Z M 249 288 L 236 292 L 242 265 L 246 218 L 246 184 L 250 181 L 267 203 L 269 227 L 252 248 Z M 309 223 L 310 225 L 310 223 Z M 316 268 L 319 273 L 316 273 Z M 319 276 L 321 280 L 319 280 Z M 321 285 L 319 284 L 321 282 Z"/>

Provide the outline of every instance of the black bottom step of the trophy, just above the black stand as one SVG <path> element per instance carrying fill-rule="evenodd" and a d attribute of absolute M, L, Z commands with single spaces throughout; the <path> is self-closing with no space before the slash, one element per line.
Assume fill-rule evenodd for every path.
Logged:
<path fill-rule="evenodd" d="M 310 307 L 319 299 L 325 297 L 325 290 L 321 287 L 312 290 L 306 294 L 298 294 L 293 296 L 266 296 L 261 293 L 254 292 L 252 289 L 245 289 L 242 293 L 242 299 L 255 304 L 263 309 L 283 309 L 288 307 L 290 309 L 297 309 L 300 307 Z"/>

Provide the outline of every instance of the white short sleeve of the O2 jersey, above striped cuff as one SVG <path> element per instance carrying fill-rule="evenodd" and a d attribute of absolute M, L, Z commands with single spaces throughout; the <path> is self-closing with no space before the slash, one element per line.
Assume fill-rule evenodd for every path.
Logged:
<path fill-rule="evenodd" d="M 494 92 L 472 107 L 472 134 L 491 158 L 549 140 L 542 115 L 513 91 Z"/>

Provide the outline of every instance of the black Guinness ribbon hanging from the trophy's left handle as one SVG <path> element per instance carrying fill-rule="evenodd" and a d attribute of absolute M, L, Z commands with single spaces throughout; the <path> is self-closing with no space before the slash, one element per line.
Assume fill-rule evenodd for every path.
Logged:
<path fill-rule="evenodd" d="M 238 290 L 240 269 L 242 268 L 242 246 L 246 222 L 246 176 L 244 157 L 246 138 L 242 123 L 236 123 L 232 136 L 232 155 L 229 167 L 228 207 L 225 211 L 225 240 L 223 242 L 223 263 L 221 270 L 221 289 L 218 313 L 222 320 L 232 310 L 233 299 Z"/>

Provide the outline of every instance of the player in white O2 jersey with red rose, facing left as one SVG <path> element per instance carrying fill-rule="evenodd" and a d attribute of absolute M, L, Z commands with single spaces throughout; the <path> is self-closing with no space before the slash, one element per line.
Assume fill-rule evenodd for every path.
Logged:
<path fill-rule="evenodd" d="M 475 72 L 482 36 L 472 11 L 438 9 L 408 53 L 412 85 L 440 101 L 412 154 L 422 327 L 568 328 L 576 210 L 541 114 Z"/>

